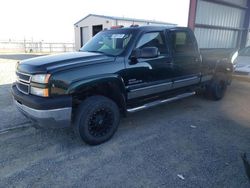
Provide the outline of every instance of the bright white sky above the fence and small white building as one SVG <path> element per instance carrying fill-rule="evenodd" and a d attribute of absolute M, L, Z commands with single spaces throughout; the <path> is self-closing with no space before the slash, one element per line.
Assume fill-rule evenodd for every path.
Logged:
<path fill-rule="evenodd" d="M 189 0 L 2 0 L 0 40 L 73 42 L 73 24 L 101 14 L 187 26 Z"/>

